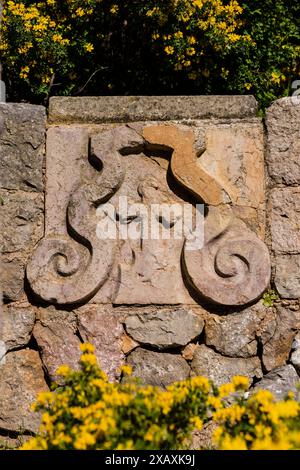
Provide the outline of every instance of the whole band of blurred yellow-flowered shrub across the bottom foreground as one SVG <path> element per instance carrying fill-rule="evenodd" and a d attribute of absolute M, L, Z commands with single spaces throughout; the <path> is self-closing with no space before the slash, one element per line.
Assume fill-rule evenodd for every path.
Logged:
<path fill-rule="evenodd" d="M 193 377 L 163 390 L 141 385 L 128 365 L 122 383 L 109 383 L 94 347 L 81 350 L 80 370 L 62 365 L 64 386 L 38 396 L 39 434 L 22 450 L 183 449 L 211 419 L 220 425 L 214 436 L 220 449 L 300 448 L 300 405 L 292 396 L 276 403 L 258 391 L 246 399 L 249 380 L 239 376 L 220 387 Z"/>

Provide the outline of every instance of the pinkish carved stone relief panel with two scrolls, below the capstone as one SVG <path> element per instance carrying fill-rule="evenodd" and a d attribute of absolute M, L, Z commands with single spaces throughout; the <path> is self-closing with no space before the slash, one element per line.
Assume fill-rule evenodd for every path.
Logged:
<path fill-rule="evenodd" d="M 222 141 L 209 126 L 51 128 L 46 236 L 27 269 L 36 294 L 58 304 L 93 296 L 116 305 L 191 304 L 201 298 L 244 305 L 257 299 L 270 278 L 268 250 L 250 229 L 259 226 L 264 200 L 263 161 L 255 160 L 260 151 L 249 143 L 255 128 L 236 127 L 222 127 Z M 250 170 L 237 181 L 243 165 Z M 251 165 L 260 173 L 254 175 Z M 122 196 L 145 207 L 183 204 L 179 194 L 189 204 L 208 206 L 203 248 L 189 251 L 184 239 L 97 237 L 101 204 L 110 202 L 116 212 Z M 133 214 L 126 223 L 134 229 L 140 222 Z"/>

